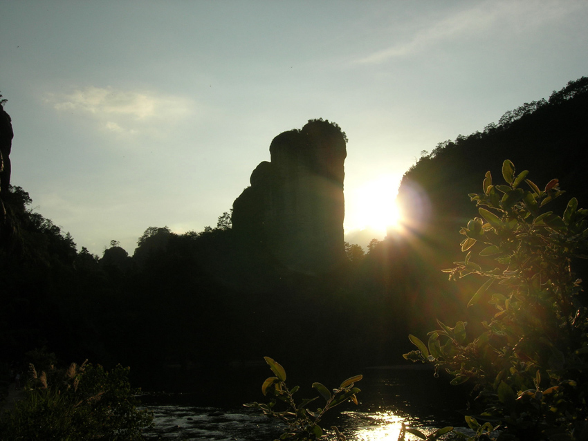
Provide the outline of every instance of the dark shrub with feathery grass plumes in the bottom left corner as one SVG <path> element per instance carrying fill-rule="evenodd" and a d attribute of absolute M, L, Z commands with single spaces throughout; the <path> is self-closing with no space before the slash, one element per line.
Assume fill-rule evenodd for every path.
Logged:
<path fill-rule="evenodd" d="M 0 439 L 142 440 L 153 417 L 137 409 L 128 375 L 85 362 L 37 374 L 31 364 L 24 399 L 0 419 Z"/>

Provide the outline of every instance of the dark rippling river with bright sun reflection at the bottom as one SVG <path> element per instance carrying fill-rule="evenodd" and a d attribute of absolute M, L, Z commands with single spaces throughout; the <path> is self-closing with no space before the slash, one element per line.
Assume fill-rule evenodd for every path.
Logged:
<path fill-rule="evenodd" d="M 333 409 L 322 427 L 338 426 L 348 441 L 396 441 L 403 422 L 423 433 L 448 425 L 463 428 L 466 386 L 450 386 L 448 378 L 434 378 L 432 370 L 415 367 L 365 369 L 356 384 L 362 390 L 358 405 L 349 402 Z M 298 394 L 312 397 L 313 392 L 303 388 Z M 261 402 L 261 393 L 249 401 L 254 400 Z M 279 423 L 242 403 L 205 405 L 195 393 L 150 393 L 143 402 L 156 424 L 147 433 L 149 440 L 269 441 L 281 433 Z"/>

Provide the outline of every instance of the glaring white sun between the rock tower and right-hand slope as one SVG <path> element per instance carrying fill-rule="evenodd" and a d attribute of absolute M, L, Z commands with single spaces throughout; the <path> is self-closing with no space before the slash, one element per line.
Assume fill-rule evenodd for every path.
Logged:
<path fill-rule="evenodd" d="M 371 228 L 385 234 L 389 228 L 398 228 L 401 223 L 396 205 L 399 182 L 398 176 L 378 176 L 346 196 L 345 223 L 349 229 Z"/>

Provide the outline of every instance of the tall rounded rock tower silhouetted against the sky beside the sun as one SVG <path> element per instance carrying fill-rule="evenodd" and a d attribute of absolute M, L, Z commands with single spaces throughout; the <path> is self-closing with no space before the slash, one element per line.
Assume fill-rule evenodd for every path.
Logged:
<path fill-rule="evenodd" d="M 233 204 L 232 227 L 267 247 L 287 268 L 315 274 L 344 259 L 344 135 L 312 121 L 277 135 Z"/>

